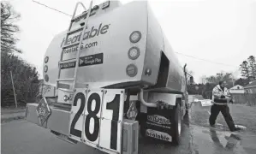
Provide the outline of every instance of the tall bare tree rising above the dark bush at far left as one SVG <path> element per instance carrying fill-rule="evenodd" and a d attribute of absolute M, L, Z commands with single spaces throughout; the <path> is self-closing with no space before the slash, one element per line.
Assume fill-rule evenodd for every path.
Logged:
<path fill-rule="evenodd" d="M 19 52 L 15 44 L 19 40 L 15 33 L 19 32 L 19 27 L 15 21 L 19 20 L 21 15 L 17 14 L 12 5 L 7 2 L 1 2 L 1 51 L 7 53 Z"/>

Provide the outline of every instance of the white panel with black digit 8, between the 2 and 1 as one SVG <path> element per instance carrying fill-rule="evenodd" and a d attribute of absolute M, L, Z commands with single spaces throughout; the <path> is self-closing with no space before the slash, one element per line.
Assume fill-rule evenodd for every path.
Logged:
<path fill-rule="evenodd" d="M 89 90 L 87 93 L 83 139 L 94 145 L 98 145 L 102 98 L 101 90 Z"/>

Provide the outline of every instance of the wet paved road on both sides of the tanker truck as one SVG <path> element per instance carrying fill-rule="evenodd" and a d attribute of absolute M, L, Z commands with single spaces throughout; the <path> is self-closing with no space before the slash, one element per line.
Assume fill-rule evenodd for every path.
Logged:
<path fill-rule="evenodd" d="M 209 109 L 200 109 L 197 105 L 185 118 L 182 143 L 179 146 L 156 144 L 151 139 L 140 138 L 140 154 L 255 154 L 256 134 L 246 131 L 229 133 L 220 127 L 213 130 L 207 126 Z M 89 146 L 70 145 L 57 139 L 50 133 L 27 121 L 12 121 L 2 124 L 3 154 L 99 154 Z"/>

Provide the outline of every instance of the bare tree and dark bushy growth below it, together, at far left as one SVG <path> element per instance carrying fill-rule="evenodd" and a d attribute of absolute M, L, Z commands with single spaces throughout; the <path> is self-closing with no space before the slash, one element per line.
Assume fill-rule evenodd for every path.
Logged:
<path fill-rule="evenodd" d="M 39 73 L 33 65 L 21 59 L 22 51 L 16 47 L 16 34 L 20 32 L 15 24 L 21 15 L 8 2 L 1 2 L 1 106 L 33 102 L 39 94 Z M 12 76 L 11 76 L 12 74 Z M 13 77 L 13 83 L 11 77 Z M 15 87 L 15 93 L 13 91 Z"/>

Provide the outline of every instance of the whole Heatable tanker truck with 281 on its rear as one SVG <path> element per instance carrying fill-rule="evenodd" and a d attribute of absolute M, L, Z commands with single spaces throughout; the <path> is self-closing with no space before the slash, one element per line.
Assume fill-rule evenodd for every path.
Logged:
<path fill-rule="evenodd" d="M 39 103 L 27 104 L 27 121 L 107 153 L 137 154 L 139 134 L 179 144 L 186 66 L 149 4 L 92 6 L 77 3 L 68 30 L 52 39 L 43 63 L 49 88 Z"/>

